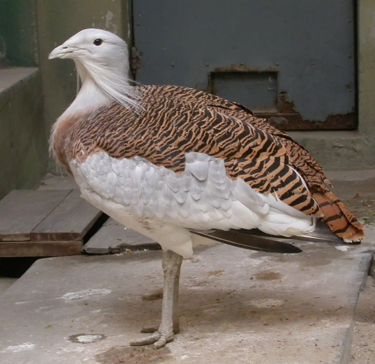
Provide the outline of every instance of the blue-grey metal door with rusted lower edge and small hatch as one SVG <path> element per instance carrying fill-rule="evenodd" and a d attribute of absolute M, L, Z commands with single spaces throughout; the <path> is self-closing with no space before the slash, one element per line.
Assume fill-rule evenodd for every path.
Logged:
<path fill-rule="evenodd" d="M 284 130 L 356 128 L 353 0 L 133 0 L 135 78 L 249 107 Z"/>

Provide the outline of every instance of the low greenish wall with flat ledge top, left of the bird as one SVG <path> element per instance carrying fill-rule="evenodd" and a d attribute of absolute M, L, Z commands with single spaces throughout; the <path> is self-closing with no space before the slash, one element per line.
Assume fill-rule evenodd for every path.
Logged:
<path fill-rule="evenodd" d="M 48 158 L 40 72 L 3 69 L 3 80 L 6 71 L 23 77 L 0 92 L 0 199 L 12 189 L 34 187 L 46 172 Z"/>

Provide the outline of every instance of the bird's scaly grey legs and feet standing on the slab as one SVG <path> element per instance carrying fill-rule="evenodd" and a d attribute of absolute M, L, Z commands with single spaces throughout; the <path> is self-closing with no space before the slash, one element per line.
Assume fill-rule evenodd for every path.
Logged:
<path fill-rule="evenodd" d="M 163 300 L 162 320 L 159 328 L 153 334 L 145 338 L 134 340 L 130 345 L 140 346 L 154 344 L 154 349 L 165 346 L 173 341 L 174 334 L 180 331 L 178 324 L 178 283 L 180 281 L 182 257 L 171 250 L 163 251 Z"/>

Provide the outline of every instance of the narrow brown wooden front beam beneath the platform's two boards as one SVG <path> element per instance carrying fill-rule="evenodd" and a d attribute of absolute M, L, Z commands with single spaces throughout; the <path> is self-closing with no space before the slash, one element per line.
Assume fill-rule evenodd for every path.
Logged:
<path fill-rule="evenodd" d="M 80 255 L 83 242 L 0 242 L 0 257 Z"/>

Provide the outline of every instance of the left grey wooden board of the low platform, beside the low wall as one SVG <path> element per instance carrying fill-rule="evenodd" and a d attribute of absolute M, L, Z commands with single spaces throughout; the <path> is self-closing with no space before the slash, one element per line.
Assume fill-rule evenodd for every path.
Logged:
<path fill-rule="evenodd" d="M 0 242 L 28 241 L 30 232 L 72 190 L 13 190 L 0 201 Z"/>

